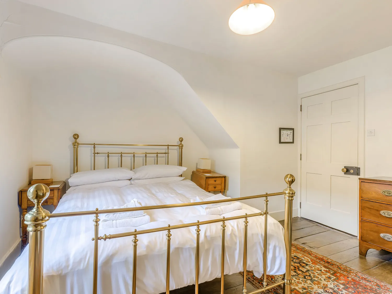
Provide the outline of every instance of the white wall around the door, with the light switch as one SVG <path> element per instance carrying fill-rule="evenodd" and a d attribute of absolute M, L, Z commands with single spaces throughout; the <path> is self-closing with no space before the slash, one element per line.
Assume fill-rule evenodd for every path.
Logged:
<path fill-rule="evenodd" d="M 365 76 L 365 169 L 361 176 L 392 176 L 392 47 L 332 65 L 298 78 L 298 93 Z"/>

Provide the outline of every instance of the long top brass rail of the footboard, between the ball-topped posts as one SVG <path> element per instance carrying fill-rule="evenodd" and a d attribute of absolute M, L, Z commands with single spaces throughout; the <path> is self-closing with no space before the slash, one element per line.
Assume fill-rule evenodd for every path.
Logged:
<path fill-rule="evenodd" d="M 127 207 L 127 208 L 116 208 L 116 209 L 102 209 L 102 210 L 96 209 L 96 210 L 90 210 L 90 211 L 58 212 L 58 213 L 49 214 L 49 218 L 61 218 L 61 217 L 65 217 L 65 216 L 106 214 L 106 213 L 115 213 L 115 212 L 127 212 L 127 211 L 140 211 L 140 210 L 151 210 L 151 209 L 162 209 L 162 208 L 207 205 L 207 204 L 223 203 L 223 202 L 230 202 L 230 201 L 241 201 L 241 200 L 248 200 L 248 199 L 254 199 L 254 198 L 284 195 L 284 194 L 285 194 L 285 192 L 277 192 L 277 193 L 270 193 L 270 194 L 266 193 L 266 194 L 260 194 L 260 195 L 254 195 L 254 196 L 245 196 L 245 197 L 239 197 L 239 198 L 228 198 L 228 199 L 211 200 L 211 201 L 174 203 L 174 204 L 163 204 L 163 205 L 152 205 L 152 206 L 141 206 L 141 207 Z"/>

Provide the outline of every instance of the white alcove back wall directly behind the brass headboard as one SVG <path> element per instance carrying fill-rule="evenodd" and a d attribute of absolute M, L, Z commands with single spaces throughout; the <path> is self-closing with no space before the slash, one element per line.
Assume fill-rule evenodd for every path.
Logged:
<path fill-rule="evenodd" d="M 153 86 L 124 74 L 102 68 L 42 74 L 33 81 L 32 104 L 33 113 L 43 114 L 32 121 L 33 164 L 53 164 L 55 178 L 65 180 L 73 172 L 74 133 L 80 135 L 81 143 L 178 144 L 183 137 L 183 165 L 189 167 L 186 178 L 197 158 L 209 156 L 207 147 Z M 152 152 L 157 151 L 165 149 Z M 91 153 L 90 147 L 79 148 L 79 171 L 92 169 Z M 118 157 L 110 159 L 110 167 L 119 166 Z M 142 160 L 138 159 L 136 167 Z M 164 161 L 159 157 L 158 162 Z M 148 162 L 154 162 L 154 156 Z M 105 163 L 106 156 L 97 156 L 97 169 Z M 178 164 L 177 150 L 170 151 L 169 163 Z M 131 166 L 130 158 L 124 156 L 123 166 Z"/>

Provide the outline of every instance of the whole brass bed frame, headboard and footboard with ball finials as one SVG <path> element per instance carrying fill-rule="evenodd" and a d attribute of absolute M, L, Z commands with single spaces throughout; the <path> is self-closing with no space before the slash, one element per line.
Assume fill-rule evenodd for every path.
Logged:
<path fill-rule="evenodd" d="M 177 145 L 145 145 L 145 144 L 96 144 L 96 143 L 79 143 L 77 139 L 79 138 L 78 134 L 73 135 L 74 142 L 73 145 L 73 163 L 74 163 L 74 172 L 78 171 L 78 147 L 80 145 L 90 145 L 93 146 L 93 157 L 94 164 L 93 168 L 95 169 L 95 154 L 107 154 L 107 167 L 109 167 L 109 156 L 111 154 L 120 155 L 121 160 L 120 164 L 122 165 L 122 154 L 132 154 L 133 155 L 133 167 L 135 164 L 134 154 L 144 154 L 145 161 L 147 164 L 147 154 L 155 154 L 156 156 L 156 164 L 158 164 L 158 155 L 165 154 L 167 156 L 166 164 L 169 164 L 169 147 L 178 147 L 179 148 L 179 165 L 182 166 L 182 149 L 183 149 L 183 138 L 180 138 L 180 143 Z M 97 146 L 146 146 L 146 147 L 165 147 L 167 152 L 96 152 Z M 59 217 L 72 217 L 72 216 L 81 216 L 81 215 L 93 215 L 94 216 L 94 237 L 92 240 L 94 241 L 94 255 L 93 255 L 93 294 L 97 294 L 98 291 L 98 244 L 100 240 L 106 241 L 115 238 L 123 238 L 132 236 L 133 243 L 133 268 L 132 268 L 132 294 L 136 294 L 136 261 L 137 261 L 137 245 L 138 239 L 137 235 L 148 234 L 152 232 L 167 232 L 167 258 L 166 258 L 166 294 L 169 294 L 170 287 L 170 241 L 171 241 L 171 231 L 175 229 L 185 228 L 185 227 L 196 227 L 196 254 L 195 254 L 195 294 L 198 294 L 198 284 L 199 284 L 199 254 L 200 254 L 200 225 L 206 225 L 210 223 L 222 223 L 222 234 L 221 234 L 221 294 L 223 294 L 223 281 L 224 281 L 224 267 L 225 267 L 225 222 L 230 220 L 238 220 L 244 219 L 244 250 L 243 250 L 243 288 L 242 294 L 247 293 L 246 289 L 246 281 L 247 281 L 247 227 L 248 227 L 248 218 L 254 216 L 264 216 L 264 252 L 263 252 L 263 288 L 257 289 L 248 294 L 256 294 L 264 292 L 273 287 L 279 286 L 283 284 L 283 293 L 289 294 L 291 289 L 291 241 L 292 241 L 292 202 L 295 196 L 295 191 L 292 189 L 291 185 L 294 183 L 295 178 L 292 174 L 287 174 L 285 176 L 285 182 L 287 183 L 287 188 L 285 188 L 282 192 L 276 193 L 265 193 L 254 196 L 245 196 L 236 198 L 236 201 L 248 200 L 248 199 L 256 199 L 256 198 L 264 198 L 264 211 L 254 213 L 254 214 L 245 214 L 241 216 L 233 216 L 228 218 L 218 218 L 215 220 L 207 220 L 207 221 L 197 221 L 195 223 L 185 223 L 180 225 L 168 225 L 167 227 L 159 227 L 154 229 L 146 229 L 146 230 L 134 230 L 132 232 L 124 232 L 119 234 L 110 234 L 103 236 L 99 235 L 99 222 L 100 219 L 99 214 L 107 214 L 107 213 L 115 213 L 115 212 L 129 212 L 129 211 L 139 211 L 139 210 L 151 210 L 151 209 L 165 209 L 172 207 L 186 207 L 186 206 L 194 206 L 194 205 L 207 205 L 214 203 L 223 203 L 232 201 L 232 199 L 224 199 L 224 200 L 214 200 L 214 201 L 203 201 L 203 202 L 192 202 L 192 203 L 177 203 L 177 204 L 166 204 L 166 205 L 154 205 L 154 206 L 144 206 L 144 207 L 131 207 L 131 208 L 121 208 L 121 209 L 98 209 L 96 208 L 94 211 L 76 211 L 76 212 L 62 212 L 62 213 L 49 213 L 49 211 L 42 208 L 42 202 L 49 196 L 49 188 L 44 184 L 36 184 L 29 188 L 27 191 L 27 196 L 31 201 L 34 202 L 34 208 L 28 212 L 25 216 L 25 224 L 27 224 L 27 230 L 29 231 L 29 280 L 28 280 L 28 293 L 29 294 L 42 294 L 43 291 L 43 263 L 44 263 L 44 232 L 46 227 L 46 222 L 51 218 L 59 218 Z M 284 241 L 285 241 L 285 249 L 286 249 L 286 265 L 285 265 L 285 274 L 281 281 L 276 281 L 268 285 L 267 283 L 267 216 L 268 216 L 268 197 L 284 195 L 285 196 L 285 224 L 284 224 Z M 140 238 L 140 237 L 139 237 Z M 46 293 L 45 293 L 46 294 Z"/>

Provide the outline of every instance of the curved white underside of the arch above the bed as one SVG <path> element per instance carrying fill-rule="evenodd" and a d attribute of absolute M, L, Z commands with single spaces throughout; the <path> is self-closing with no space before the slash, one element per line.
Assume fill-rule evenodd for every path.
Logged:
<path fill-rule="evenodd" d="M 147 81 L 171 103 L 208 148 L 238 148 L 178 71 L 140 52 L 106 42 L 67 36 L 29 36 L 4 44 L 5 62 L 37 76 L 65 68 L 98 67 Z"/>

